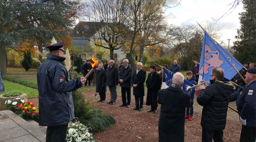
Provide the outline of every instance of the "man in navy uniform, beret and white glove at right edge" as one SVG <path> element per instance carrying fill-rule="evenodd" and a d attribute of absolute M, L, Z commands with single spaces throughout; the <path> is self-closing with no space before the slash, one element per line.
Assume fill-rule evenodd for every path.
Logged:
<path fill-rule="evenodd" d="M 247 84 L 231 94 L 229 102 L 236 101 L 242 123 L 240 142 L 255 142 L 256 139 L 256 68 L 245 74 Z"/>

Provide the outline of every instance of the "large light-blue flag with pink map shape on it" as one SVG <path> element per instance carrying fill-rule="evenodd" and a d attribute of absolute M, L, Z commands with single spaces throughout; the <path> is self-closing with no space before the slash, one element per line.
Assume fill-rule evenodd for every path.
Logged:
<path fill-rule="evenodd" d="M 237 73 L 234 66 L 237 67 L 237 70 L 241 70 L 239 64 L 233 64 L 234 57 L 231 58 L 231 56 L 229 56 L 229 58 L 228 54 L 224 52 L 225 49 L 220 47 L 212 40 L 209 34 L 204 31 L 204 42 L 198 72 L 198 83 L 200 83 L 202 80 L 209 81 L 211 79 L 210 75 L 212 73 L 212 69 L 215 67 L 220 67 L 223 69 L 225 74 L 224 77 L 229 80 L 231 80 L 231 78 L 233 78 Z"/>

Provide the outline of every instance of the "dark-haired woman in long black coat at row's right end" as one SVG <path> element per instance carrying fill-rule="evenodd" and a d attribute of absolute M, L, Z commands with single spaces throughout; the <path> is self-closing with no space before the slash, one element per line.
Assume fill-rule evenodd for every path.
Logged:
<path fill-rule="evenodd" d="M 153 111 L 153 113 L 157 112 L 157 94 L 159 90 L 159 75 L 156 72 L 156 67 L 154 65 L 149 67 L 150 73 L 148 74 L 148 79 L 146 81 L 146 86 L 148 88 L 148 93 L 147 93 L 147 101 L 146 105 L 150 106 L 151 109 L 148 110 L 148 112 Z"/>

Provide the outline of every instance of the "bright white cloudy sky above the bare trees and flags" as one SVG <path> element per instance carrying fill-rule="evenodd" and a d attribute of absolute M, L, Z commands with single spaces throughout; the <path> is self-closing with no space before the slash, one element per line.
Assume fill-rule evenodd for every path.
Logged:
<path fill-rule="evenodd" d="M 180 0 L 166 0 L 168 6 L 175 6 Z M 214 21 L 219 19 L 231 7 L 229 4 L 234 0 L 181 0 L 180 5 L 167 8 L 166 14 L 171 14 L 174 18 L 168 20 L 169 24 L 179 26 L 181 23 L 200 24 L 203 21 Z M 230 40 L 230 45 L 236 41 L 236 30 L 240 29 L 240 20 L 238 13 L 244 11 L 243 4 L 236 7 L 235 10 L 228 12 L 229 15 L 222 17 L 216 24 L 221 28 L 222 38 L 226 45 Z M 212 19 L 213 18 L 213 19 Z"/>

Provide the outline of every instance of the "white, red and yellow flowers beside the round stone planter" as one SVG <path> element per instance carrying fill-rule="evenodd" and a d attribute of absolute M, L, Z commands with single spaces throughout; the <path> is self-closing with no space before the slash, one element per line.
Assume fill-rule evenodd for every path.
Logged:
<path fill-rule="evenodd" d="M 32 102 L 25 102 L 25 100 L 20 98 L 13 98 L 12 100 L 6 100 L 4 107 L 10 109 L 17 115 L 22 115 L 25 119 L 38 120 L 39 111 Z"/>

